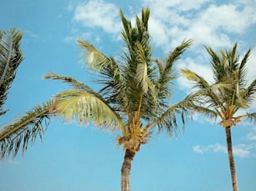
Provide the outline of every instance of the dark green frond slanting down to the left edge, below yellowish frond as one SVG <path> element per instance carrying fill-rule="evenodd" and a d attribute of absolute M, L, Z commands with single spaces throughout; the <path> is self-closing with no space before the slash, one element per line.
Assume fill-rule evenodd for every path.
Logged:
<path fill-rule="evenodd" d="M 54 106 L 53 101 L 43 103 L 26 112 L 23 116 L 16 118 L 13 122 L 0 128 L 0 158 L 9 155 L 16 156 L 19 149 L 24 153 L 28 145 L 33 145 L 49 125 L 50 111 Z"/>

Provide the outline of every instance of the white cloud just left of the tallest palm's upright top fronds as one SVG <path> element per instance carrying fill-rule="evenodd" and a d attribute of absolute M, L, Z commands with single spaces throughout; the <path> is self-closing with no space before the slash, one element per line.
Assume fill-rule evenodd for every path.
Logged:
<path fill-rule="evenodd" d="M 119 8 L 100 0 L 80 3 L 74 9 L 74 21 L 89 28 L 102 28 L 106 33 L 120 33 Z"/>

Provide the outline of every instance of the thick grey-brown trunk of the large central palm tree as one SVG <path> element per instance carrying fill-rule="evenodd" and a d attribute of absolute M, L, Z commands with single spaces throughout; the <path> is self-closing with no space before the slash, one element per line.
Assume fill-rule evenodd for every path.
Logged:
<path fill-rule="evenodd" d="M 130 191 L 131 161 L 136 153 L 129 149 L 125 150 L 124 163 L 121 168 L 121 191 Z"/>

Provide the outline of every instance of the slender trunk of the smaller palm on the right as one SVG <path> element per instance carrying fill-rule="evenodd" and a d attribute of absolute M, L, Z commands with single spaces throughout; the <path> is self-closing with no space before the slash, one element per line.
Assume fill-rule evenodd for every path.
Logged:
<path fill-rule="evenodd" d="M 232 148 L 232 138 L 231 138 L 231 129 L 230 127 L 226 129 L 226 138 L 227 138 L 227 148 L 228 148 L 228 160 L 229 160 L 229 168 L 232 178 L 233 191 L 238 191 L 238 179 L 235 168 L 235 163 L 233 160 L 233 148 Z"/>

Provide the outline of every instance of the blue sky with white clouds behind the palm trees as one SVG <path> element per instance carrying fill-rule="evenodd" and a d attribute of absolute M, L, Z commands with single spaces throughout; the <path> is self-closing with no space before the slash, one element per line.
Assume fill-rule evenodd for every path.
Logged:
<path fill-rule="evenodd" d="M 90 83 L 92 76 L 81 65 L 76 39 L 90 41 L 106 55 L 119 56 L 123 44 L 120 8 L 131 20 L 142 7 L 151 8 L 149 30 L 158 58 L 183 39 L 192 38 L 192 48 L 176 67 L 190 68 L 210 81 L 209 57 L 203 45 L 218 51 L 238 42 L 242 55 L 252 48 L 248 61 L 251 81 L 256 78 L 255 4 L 255 0 L 0 0 L 0 28 L 23 31 L 25 56 L 5 104 L 9 112 L 0 125 L 68 88 L 44 80 L 49 71 Z M 190 87 L 186 79 L 177 78 L 173 102 L 186 96 Z M 251 111 L 256 111 L 256 101 Z M 177 137 L 156 133 L 141 147 L 132 163 L 131 190 L 231 190 L 224 129 L 202 116 L 193 119 Z M 239 188 L 254 191 L 256 127 L 245 122 L 232 130 Z M 23 156 L 0 161 L 0 190 L 120 190 L 124 152 L 115 143 L 115 135 L 53 118 L 42 143 L 38 141 Z"/>

